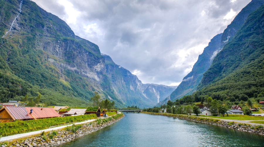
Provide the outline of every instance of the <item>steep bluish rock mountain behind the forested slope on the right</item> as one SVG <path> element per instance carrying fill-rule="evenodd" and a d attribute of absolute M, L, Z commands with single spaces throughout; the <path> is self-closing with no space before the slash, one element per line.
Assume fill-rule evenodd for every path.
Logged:
<path fill-rule="evenodd" d="M 223 49 L 223 47 L 233 39 L 236 32 L 243 26 L 248 15 L 264 4 L 263 0 L 252 0 L 245 6 L 234 20 L 227 26 L 223 33 L 218 34 L 211 39 L 208 46 L 199 55 L 197 62 L 194 64 L 192 71 L 187 74 L 180 85 L 164 101 L 158 103 L 158 106 L 167 103 L 168 100 L 176 100 L 185 95 L 192 94 L 197 90 L 197 86 L 203 78 L 205 71 L 211 66 L 214 57 Z"/>

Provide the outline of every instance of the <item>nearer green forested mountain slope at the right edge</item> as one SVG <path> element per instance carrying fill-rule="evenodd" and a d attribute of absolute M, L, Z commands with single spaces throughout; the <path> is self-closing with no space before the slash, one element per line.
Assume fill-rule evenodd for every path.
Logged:
<path fill-rule="evenodd" d="M 264 91 L 264 5 L 252 12 L 204 73 L 199 93 L 247 100 Z"/>

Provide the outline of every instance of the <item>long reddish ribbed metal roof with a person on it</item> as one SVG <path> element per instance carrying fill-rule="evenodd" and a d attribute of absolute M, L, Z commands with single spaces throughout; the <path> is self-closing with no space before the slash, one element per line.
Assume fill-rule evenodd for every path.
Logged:
<path fill-rule="evenodd" d="M 30 113 L 30 110 L 33 110 Z M 35 118 L 50 118 L 60 117 L 53 108 L 47 107 L 13 107 L 7 106 L 2 108 L 0 111 L 6 110 L 13 120 L 17 119 L 35 119 Z"/>

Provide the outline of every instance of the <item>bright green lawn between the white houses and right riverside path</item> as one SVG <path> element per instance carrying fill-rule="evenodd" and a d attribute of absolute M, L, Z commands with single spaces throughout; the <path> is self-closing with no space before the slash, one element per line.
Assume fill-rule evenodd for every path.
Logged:
<path fill-rule="evenodd" d="M 199 115 L 199 116 L 204 116 L 204 117 L 210 117 L 210 118 L 221 118 L 221 119 L 235 119 L 235 120 L 264 120 L 263 116 L 248 116 L 248 115 L 228 115 L 228 116 L 205 116 L 205 115 Z"/>

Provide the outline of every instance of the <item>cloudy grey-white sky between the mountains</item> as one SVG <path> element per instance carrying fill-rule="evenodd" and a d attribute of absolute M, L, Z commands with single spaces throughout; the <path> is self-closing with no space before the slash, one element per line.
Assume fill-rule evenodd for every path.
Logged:
<path fill-rule="evenodd" d="M 178 85 L 250 0 L 33 0 L 143 83 Z"/>

